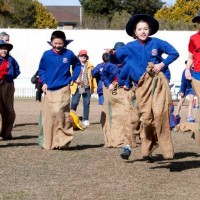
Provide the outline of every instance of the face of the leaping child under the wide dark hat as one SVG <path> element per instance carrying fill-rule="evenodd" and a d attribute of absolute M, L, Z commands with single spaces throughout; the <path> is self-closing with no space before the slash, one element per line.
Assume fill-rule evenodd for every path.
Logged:
<path fill-rule="evenodd" d="M 134 33 L 140 41 L 147 40 L 150 34 L 149 24 L 144 21 L 138 22 L 134 30 Z"/>

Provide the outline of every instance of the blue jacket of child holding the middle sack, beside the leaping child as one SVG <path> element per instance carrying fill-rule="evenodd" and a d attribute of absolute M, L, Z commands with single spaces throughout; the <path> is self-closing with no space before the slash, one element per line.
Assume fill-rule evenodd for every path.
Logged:
<path fill-rule="evenodd" d="M 120 73 L 123 68 L 123 65 L 113 64 L 107 62 L 102 71 L 102 81 L 105 87 L 108 87 L 112 82 L 117 78 L 119 86 L 124 85 L 124 80 L 120 79 Z"/>

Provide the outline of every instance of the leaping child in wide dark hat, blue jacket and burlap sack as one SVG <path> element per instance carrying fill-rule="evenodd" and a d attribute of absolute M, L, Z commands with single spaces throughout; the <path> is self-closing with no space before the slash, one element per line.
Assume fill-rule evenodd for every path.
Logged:
<path fill-rule="evenodd" d="M 136 99 L 140 114 L 140 137 L 142 155 L 150 160 L 158 145 L 163 157 L 172 159 L 174 149 L 171 138 L 169 112 L 171 93 L 168 65 L 179 54 L 168 42 L 149 37 L 159 29 L 159 23 L 147 14 L 133 15 L 126 25 L 126 32 L 136 40 L 116 51 L 119 62 L 126 62 L 122 68 L 129 74 L 129 82 L 137 85 Z M 167 57 L 162 58 L 162 54 Z M 148 66 L 148 67 L 147 67 Z M 127 84 L 127 89 L 130 84 Z"/>

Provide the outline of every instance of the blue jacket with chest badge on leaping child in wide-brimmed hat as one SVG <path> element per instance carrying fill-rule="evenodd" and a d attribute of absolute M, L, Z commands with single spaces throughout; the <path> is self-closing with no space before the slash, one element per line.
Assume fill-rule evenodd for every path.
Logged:
<path fill-rule="evenodd" d="M 164 53 L 168 55 L 165 59 L 162 57 Z M 129 42 L 119 48 L 115 56 L 120 63 L 126 63 L 126 67 L 123 70 L 127 70 L 126 73 L 130 74 L 130 80 L 132 79 L 137 83 L 145 73 L 148 62 L 153 62 L 154 64 L 163 62 L 165 66 L 162 72 L 170 80 L 168 65 L 179 57 L 179 53 L 168 42 L 149 37 L 145 44 L 140 43 L 139 40 Z"/>

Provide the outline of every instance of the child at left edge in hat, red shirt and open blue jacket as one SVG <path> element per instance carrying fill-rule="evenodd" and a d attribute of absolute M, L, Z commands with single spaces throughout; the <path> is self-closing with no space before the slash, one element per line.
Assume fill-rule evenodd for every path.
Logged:
<path fill-rule="evenodd" d="M 3 140 L 12 139 L 15 121 L 13 80 L 20 74 L 17 61 L 9 55 L 12 48 L 12 44 L 0 40 L 0 137 Z"/>

